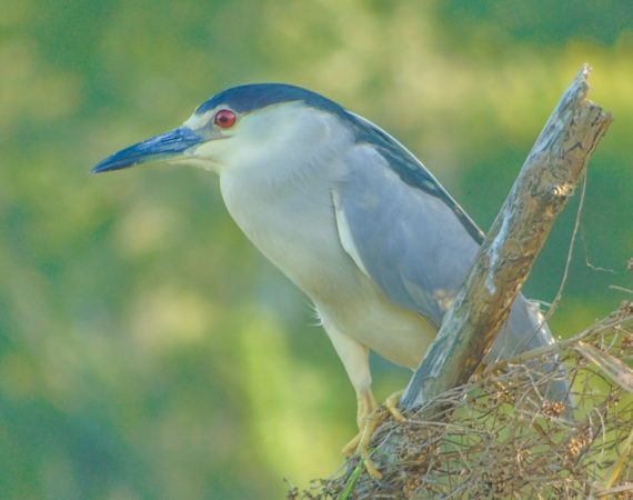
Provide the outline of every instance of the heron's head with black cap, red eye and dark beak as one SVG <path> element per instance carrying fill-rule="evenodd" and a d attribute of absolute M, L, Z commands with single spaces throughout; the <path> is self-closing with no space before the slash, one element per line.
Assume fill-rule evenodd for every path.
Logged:
<path fill-rule="evenodd" d="M 340 138 L 346 112 L 305 89 L 281 83 L 234 87 L 203 102 L 177 129 L 130 146 L 92 172 L 145 163 L 191 163 L 223 172 L 244 164 L 289 161 Z M 335 141 L 334 141 L 335 142 Z"/>

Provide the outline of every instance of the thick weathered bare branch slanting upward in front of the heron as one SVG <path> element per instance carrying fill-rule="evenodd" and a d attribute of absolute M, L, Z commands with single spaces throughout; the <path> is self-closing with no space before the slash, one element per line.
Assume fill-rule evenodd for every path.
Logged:
<path fill-rule="evenodd" d="M 574 192 L 611 114 L 586 100 L 576 74 L 539 136 L 469 278 L 402 398 L 405 409 L 465 383 L 508 319 L 555 218 Z"/>

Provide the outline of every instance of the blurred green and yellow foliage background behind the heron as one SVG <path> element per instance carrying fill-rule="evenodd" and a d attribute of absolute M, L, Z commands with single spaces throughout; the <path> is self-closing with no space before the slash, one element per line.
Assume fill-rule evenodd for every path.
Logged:
<path fill-rule="evenodd" d="M 615 122 L 552 327 L 571 334 L 631 299 L 609 288 L 632 288 L 629 1 L 0 0 L 0 12 L 2 499 L 272 499 L 282 478 L 305 486 L 340 463 L 352 388 L 217 180 L 88 173 L 225 87 L 284 81 L 340 101 L 488 228 L 589 61 Z M 554 297 L 573 217 L 529 296 Z M 408 373 L 374 360 L 374 380 L 382 398 Z"/>

